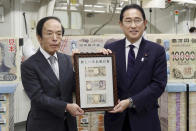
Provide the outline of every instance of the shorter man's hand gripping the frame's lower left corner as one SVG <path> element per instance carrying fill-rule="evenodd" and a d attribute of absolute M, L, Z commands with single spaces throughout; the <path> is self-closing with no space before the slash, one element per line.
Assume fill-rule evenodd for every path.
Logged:
<path fill-rule="evenodd" d="M 84 111 L 75 103 L 67 104 L 66 111 L 68 111 L 74 117 L 84 114 Z"/>

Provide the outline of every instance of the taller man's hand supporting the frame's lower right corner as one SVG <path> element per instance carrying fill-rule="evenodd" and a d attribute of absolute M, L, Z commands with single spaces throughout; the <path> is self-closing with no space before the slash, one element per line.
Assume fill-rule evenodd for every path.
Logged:
<path fill-rule="evenodd" d="M 125 109 L 127 109 L 130 105 L 130 100 L 125 99 L 122 101 L 118 101 L 118 104 L 113 108 L 112 111 L 109 111 L 110 113 L 118 113 L 118 112 L 123 112 Z"/>

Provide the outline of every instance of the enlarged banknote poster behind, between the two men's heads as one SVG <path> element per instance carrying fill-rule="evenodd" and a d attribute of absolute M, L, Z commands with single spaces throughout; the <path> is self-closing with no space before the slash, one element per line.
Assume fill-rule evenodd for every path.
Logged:
<path fill-rule="evenodd" d="M 124 35 L 64 36 L 60 52 L 71 55 L 73 49 L 83 53 L 96 53 L 105 44 L 124 38 Z"/>

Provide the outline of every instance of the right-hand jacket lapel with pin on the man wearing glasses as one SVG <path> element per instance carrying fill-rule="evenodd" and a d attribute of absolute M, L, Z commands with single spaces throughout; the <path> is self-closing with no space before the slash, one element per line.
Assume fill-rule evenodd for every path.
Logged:
<path fill-rule="evenodd" d="M 133 80 L 135 79 L 139 71 L 141 71 L 141 68 L 144 66 L 147 60 L 147 56 L 148 56 L 148 49 L 146 47 L 146 41 L 142 38 L 142 41 L 141 41 L 141 44 L 138 50 L 138 54 L 136 57 L 134 69 L 131 72 L 132 77 L 129 79 L 128 85 L 130 85 L 133 82 Z"/>

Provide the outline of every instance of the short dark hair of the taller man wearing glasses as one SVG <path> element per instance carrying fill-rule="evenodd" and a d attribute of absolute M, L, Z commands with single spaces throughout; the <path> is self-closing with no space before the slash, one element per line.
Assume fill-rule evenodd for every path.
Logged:
<path fill-rule="evenodd" d="M 122 19 L 123 19 L 123 14 L 126 10 L 129 10 L 129 9 L 137 9 L 141 12 L 142 14 L 142 17 L 144 20 L 146 20 L 146 16 L 145 16 L 145 13 L 144 13 L 144 10 L 141 6 L 137 5 L 137 4 L 130 4 L 130 5 L 126 5 L 125 7 L 123 7 L 123 9 L 121 10 L 120 12 L 120 21 L 122 22 Z"/>

